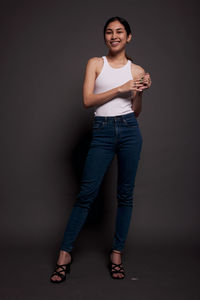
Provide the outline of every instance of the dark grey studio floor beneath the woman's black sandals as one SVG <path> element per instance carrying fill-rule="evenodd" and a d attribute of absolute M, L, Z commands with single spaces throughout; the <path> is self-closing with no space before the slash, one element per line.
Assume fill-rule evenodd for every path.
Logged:
<path fill-rule="evenodd" d="M 114 280 L 106 268 L 107 250 L 74 251 L 70 277 L 52 284 L 56 250 L 1 250 L 1 300 L 199 300 L 197 248 L 129 247 L 123 256 L 126 277 Z"/>

